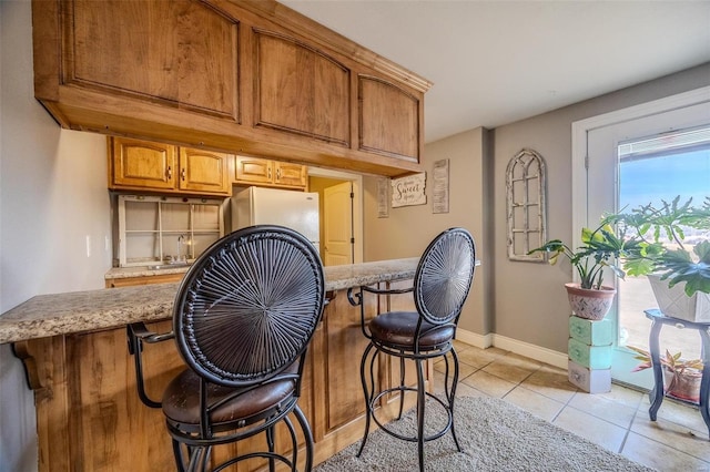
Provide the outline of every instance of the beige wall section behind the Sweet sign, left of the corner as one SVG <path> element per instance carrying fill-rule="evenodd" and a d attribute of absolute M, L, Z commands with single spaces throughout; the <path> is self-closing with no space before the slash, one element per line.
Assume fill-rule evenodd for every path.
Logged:
<path fill-rule="evenodd" d="M 483 261 L 476 273 L 471 294 L 464 307 L 460 327 L 478 334 L 491 329 L 490 284 L 493 281 L 491 225 L 485 202 L 489 179 L 489 161 L 486 156 L 488 132 L 476 129 L 457 134 L 425 147 L 427 181 L 426 205 L 389 208 L 389 217 L 377 217 L 377 178 L 365 178 L 364 240 L 365 260 L 393 259 L 419 256 L 440 232 L 460 226 L 476 239 L 478 255 Z M 434 162 L 449 160 L 449 212 L 432 213 L 432 170 Z M 392 194 L 392 192 L 390 192 Z M 486 275 L 484 275 L 486 274 Z"/>

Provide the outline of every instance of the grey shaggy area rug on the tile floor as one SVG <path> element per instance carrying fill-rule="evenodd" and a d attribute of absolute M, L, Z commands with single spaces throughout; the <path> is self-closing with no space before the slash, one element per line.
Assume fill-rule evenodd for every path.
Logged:
<path fill-rule="evenodd" d="M 445 413 L 427 402 L 427 430 L 440 427 Z M 410 434 L 415 411 L 408 411 L 389 428 Z M 487 397 L 456 399 L 456 435 L 450 433 L 425 443 L 426 471 L 652 471 L 621 454 L 549 423 L 505 400 Z M 416 443 L 371 432 L 361 458 L 359 441 L 315 468 L 316 472 L 417 471 Z"/>

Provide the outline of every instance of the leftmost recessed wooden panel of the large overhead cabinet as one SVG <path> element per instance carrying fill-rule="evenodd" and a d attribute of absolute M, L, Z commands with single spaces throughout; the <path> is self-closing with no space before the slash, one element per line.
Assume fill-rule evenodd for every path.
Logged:
<path fill-rule="evenodd" d="M 236 21 L 190 1 L 67 4 L 65 83 L 236 119 Z"/>

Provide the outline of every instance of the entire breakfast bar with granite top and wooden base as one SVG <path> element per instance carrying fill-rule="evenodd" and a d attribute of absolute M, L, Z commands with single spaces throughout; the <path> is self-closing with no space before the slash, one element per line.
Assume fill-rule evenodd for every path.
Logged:
<path fill-rule="evenodd" d="M 361 330 L 361 308 L 349 304 L 347 288 L 378 283 L 409 287 L 417 263 L 408 258 L 325 268 L 329 302 L 310 343 L 298 401 L 313 431 L 315 463 L 358 441 L 364 431 L 363 392 L 353 379 L 359 376 L 368 340 Z M 40 472 L 175 470 L 162 411 L 148 408 L 138 396 L 125 326 L 144 321 L 155 332 L 169 331 L 176 291 L 178 284 L 171 283 L 41 295 L 0 316 L 0 342 L 12 342 L 34 393 Z M 412 294 L 366 297 L 366 319 L 385 307 L 412 310 Z M 148 393 L 160 400 L 184 361 L 172 341 L 146 345 L 143 359 Z M 383 386 L 398 384 L 399 362 L 382 359 L 378 368 Z M 425 376 L 433 378 L 432 362 Z M 407 368 L 405 378 L 415 384 L 416 369 Z M 407 408 L 414 403 L 414 398 L 405 400 Z M 383 403 L 382 418 L 394 418 L 398 407 L 393 396 Z M 277 449 L 290 448 L 285 438 L 284 431 L 276 432 Z M 250 438 L 237 448 L 263 449 L 263 441 Z M 217 447 L 213 458 L 233 453 L 229 448 Z M 247 461 L 237 472 L 262 465 Z"/>

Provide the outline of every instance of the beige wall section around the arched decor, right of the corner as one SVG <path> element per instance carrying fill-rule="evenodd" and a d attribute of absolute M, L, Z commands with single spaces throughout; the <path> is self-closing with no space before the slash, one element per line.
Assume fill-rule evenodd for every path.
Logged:
<path fill-rule="evenodd" d="M 571 267 L 507 259 L 505 171 L 510 157 L 524 147 L 542 155 L 548 172 L 548 237 L 571 240 L 571 124 L 707 85 L 710 64 L 495 130 L 495 193 L 488 208 L 494 215 L 495 230 L 496 336 L 567 352 L 569 308 L 562 284 L 571 279 Z"/>

